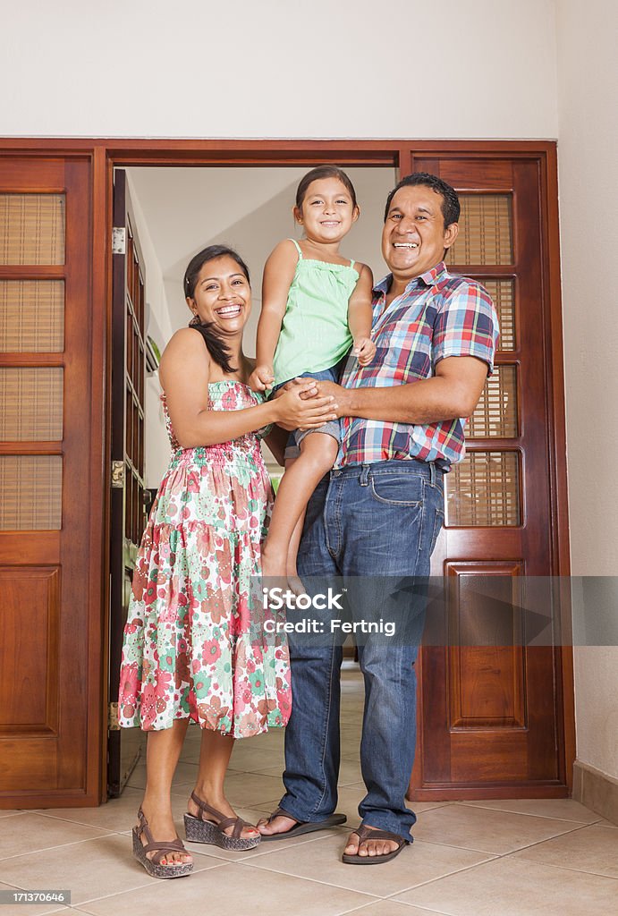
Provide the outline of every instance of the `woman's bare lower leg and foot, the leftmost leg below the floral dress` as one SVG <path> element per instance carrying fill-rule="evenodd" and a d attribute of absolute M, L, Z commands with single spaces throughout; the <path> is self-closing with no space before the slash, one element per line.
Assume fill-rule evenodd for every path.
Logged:
<path fill-rule="evenodd" d="M 177 719 L 171 728 L 148 732 L 146 740 L 146 790 L 142 811 L 157 842 L 175 840 L 178 836 L 171 812 L 171 783 L 179 762 L 189 719 Z M 145 843 L 145 837 L 142 836 Z M 154 853 L 146 853 L 152 858 Z M 188 852 L 169 852 L 161 865 L 192 862 Z"/>

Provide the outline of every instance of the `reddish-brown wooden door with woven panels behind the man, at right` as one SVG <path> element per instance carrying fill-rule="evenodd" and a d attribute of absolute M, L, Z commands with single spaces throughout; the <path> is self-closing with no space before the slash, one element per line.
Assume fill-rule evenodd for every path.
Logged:
<path fill-rule="evenodd" d="M 446 527 L 432 567 L 446 583 L 446 638 L 422 651 L 410 794 L 564 795 L 561 650 L 526 646 L 518 611 L 529 577 L 558 574 L 539 160 L 425 154 L 413 158 L 413 170 L 439 174 L 459 191 L 461 233 L 449 252 L 450 270 L 490 290 L 501 337 L 494 374 L 467 426 L 466 457 L 446 477 Z M 496 599 L 485 619 L 475 595 L 479 576 Z M 495 640 L 497 602 L 503 638 Z"/>

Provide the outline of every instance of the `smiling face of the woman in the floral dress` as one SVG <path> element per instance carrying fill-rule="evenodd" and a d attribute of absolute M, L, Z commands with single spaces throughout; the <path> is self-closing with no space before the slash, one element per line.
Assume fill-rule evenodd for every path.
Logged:
<path fill-rule="evenodd" d="M 206 261 L 187 304 L 203 324 L 212 322 L 222 334 L 242 332 L 251 311 L 251 287 L 233 257 L 222 255 Z"/>

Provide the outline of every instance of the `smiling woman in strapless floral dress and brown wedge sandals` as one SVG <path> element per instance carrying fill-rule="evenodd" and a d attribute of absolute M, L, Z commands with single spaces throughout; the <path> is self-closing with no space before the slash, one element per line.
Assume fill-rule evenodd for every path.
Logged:
<path fill-rule="evenodd" d="M 232 249 L 211 245 L 193 257 L 184 292 L 193 319 L 174 334 L 159 369 L 173 454 L 137 556 L 119 694 L 121 725 L 149 733 L 133 844 L 156 878 L 193 867 L 170 802 L 190 718 L 202 732 L 187 838 L 228 849 L 260 840 L 223 794 L 234 739 L 285 725 L 290 712 L 287 647 L 249 634 L 250 580 L 260 574 L 271 503 L 255 431 L 283 428 L 266 437 L 278 459 L 283 430 L 334 417 L 332 398 L 300 397 L 315 393 L 310 379 L 267 403 L 247 386 L 251 287 Z"/>

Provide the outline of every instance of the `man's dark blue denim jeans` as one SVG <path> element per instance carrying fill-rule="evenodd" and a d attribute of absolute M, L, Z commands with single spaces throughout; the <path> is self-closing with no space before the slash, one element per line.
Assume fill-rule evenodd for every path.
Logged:
<path fill-rule="evenodd" d="M 414 460 L 331 471 L 309 501 L 298 553 L 298 574 L 306 586 L 311 583 L 308 592 L 325 592 L 333 577 L 342 577 L 352 623 L 396 621 L 396 638 L 357 638 L 367 789 L 359 813 L 363 823 L 407 842 L 416 821 L 405 802 L 417 738 L 415 661 L 429 558 L 444 518 L 442 478 L 434 464 Z M 332 611 L 310 613 L 322 614 L 324 636 L 288 637 L 293 699 L 281 808 L 298 821 L 317 822 L 337 804 L 342 638 L 331 633 Z"/>

